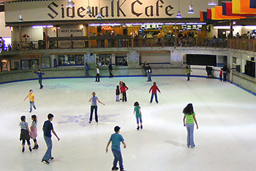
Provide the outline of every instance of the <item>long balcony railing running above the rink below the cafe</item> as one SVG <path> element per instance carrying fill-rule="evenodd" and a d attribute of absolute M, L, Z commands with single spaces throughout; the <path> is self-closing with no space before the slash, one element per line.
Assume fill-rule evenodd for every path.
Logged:
<path fill-rule="evenodd" d="M 131 36 L 48 37 L 47 41 L 13 41 L 4 51 L 110 47 L 205 47 L 256 51 L 256 39 L 132 38 Z"/>

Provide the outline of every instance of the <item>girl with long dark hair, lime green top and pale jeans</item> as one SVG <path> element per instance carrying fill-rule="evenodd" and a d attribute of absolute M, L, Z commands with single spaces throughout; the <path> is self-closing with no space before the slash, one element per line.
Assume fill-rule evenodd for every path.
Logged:
<path fill-rule="evenodd" d="M 192 103 L 189 103 L 186 106 L 186 108 L 183 109 L 183 114 L 184 114 L 184 118 L 183 118 L 184 127 L 187 127 L 187 148 L 189 148 L 189 146 L 191 148 L 194 148 L 195 147 L 194 122 L 197 125 L 197 129 L 198 129 L 198 124 L 197 124 L 197 119 L 195 119 L 195 111 L 192 106 Z M 185 119 L 186 119 L 186 123 L 185 123 Z"/>

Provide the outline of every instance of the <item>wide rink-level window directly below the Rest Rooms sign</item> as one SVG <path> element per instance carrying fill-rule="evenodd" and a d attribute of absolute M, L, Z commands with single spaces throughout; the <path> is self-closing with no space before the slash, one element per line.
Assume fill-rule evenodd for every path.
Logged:
<path fill-rule="evenodd" d="M 58 55 L 58 65 L 84 65 L 84 56 Z"/>

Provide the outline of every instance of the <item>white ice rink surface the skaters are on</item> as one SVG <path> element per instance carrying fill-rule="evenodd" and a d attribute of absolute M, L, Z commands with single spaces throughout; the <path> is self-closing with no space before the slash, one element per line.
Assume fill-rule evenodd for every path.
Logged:
<path fill-rule="evenodd" d="M 44 79 L 0 84 L 0 170 L 110 171 L 113 154 L 105 152 L 113 127 L 121 127 L 127 148 L 121 147 L 128 171 L 256 170 L 256 96 L 229 82 L 192 77 L 153 76 L 161 90 L 159 103 L 149 103 L 152 82 L 146 77 Z M 116 102 L 116 85 L 127 84 L 127 103 Z M 20 116 L 31 125 L 29 90 L 34 90 L 39 149 L 21 152 Z M 89 124 L 91 92 L 98 104 L 99 123 Z M 143 130 L 136 130 L 133 104 L 140 103 Z M 183 108 L 193 103 L 199 129 L 195 148 L 187 148 Z M 46 151 L 42 124 L 52 113 L 54 160 L 41 162 Z M 31 145 L 34 142 L 31 140 Z M 110 150 L 110 148 L 109 148 Z"/>

